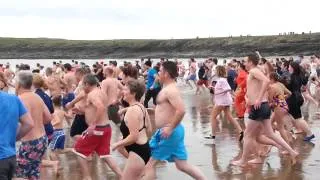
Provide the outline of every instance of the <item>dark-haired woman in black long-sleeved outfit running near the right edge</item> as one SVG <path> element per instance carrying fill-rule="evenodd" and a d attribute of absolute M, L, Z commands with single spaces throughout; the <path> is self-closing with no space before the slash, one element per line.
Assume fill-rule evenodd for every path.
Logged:
<path fill-rule="evenodd" d="M 301 93 L 301 87 L 307 84 L 308 79 L 304 75 L 302 68 L 297 62 L 290 63 L 289 72 L 291 73 L 291 77 L 289 83 L 287 84 L 287 88 L 292 93 L 292 95 L 287 99 L 289 114 L 291 114 L 294 119 L 294 125 L 306 134 L 304 141 L 310 141 L 315 138 L 315 136 L 311 132 L 307 122 L 302 118 L 301 112 L 301 106 L 304 102 Z"/>

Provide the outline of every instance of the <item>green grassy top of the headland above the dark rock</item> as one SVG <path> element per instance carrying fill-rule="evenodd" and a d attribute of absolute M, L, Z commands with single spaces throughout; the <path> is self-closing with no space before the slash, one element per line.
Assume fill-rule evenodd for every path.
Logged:
<path fill-rule="evenodd" d="M 144 47 L 154 45 L 157 47 L 176 47 L 179 45 L 201 47 L 214 45 L 246 45 L 260 46 L 263 44 L 319 42 L 320 33 L 287 36 L 243 36 L 243 37 L 221 37 L 221 38 L 199 38 L 199 39 L 171 39 L 171 40 L 65 40 L 48 38 L 0 38 L 0 47 L 28 47 L 28 48 L 50 48 L 50 47 L 90 47 L 90 46 L 117 46 L 117 47 Z"/>

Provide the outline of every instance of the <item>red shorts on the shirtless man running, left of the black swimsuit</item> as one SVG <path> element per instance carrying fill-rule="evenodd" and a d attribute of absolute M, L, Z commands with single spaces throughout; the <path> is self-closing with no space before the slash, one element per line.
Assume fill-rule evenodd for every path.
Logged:
<path fill-rule="evenodd" d="M 100 158 L 106 158 L 110 155 L 110 140 L 110 125 L 97 126 L 93 135 L 84 134 L 77 140 L 74 151 L 83 158 L 87 158 L 93 152 L 96 152 Z"/>

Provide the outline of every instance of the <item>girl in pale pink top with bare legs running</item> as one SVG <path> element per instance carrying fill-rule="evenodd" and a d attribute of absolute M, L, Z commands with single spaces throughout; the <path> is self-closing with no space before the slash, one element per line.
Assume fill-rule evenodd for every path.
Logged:
<path fill-rule="evenodd" d="M 216 75 L 217 75 L 217 83 L 214 87 L 214 107 L 212 110 L 212 118 L 211 118 L 211 128 L 212 134 L 210 136 L 205 137 L 208 140 L 208 143 L 214 144 L 216 138 L 216 129 L 217 129 L 217 117 L 223 111 L 227 120 L 230 121 L 237 129 L 239 133 L 239 141 L 242 141 L 243 131 L 242 128 L 236 119 L 232 117 L 230 106 L 232 105 L 232 97 L 231 97 L 231 87 L 227 81 L 227 72 L 224 66 L 216 67 Z"/>

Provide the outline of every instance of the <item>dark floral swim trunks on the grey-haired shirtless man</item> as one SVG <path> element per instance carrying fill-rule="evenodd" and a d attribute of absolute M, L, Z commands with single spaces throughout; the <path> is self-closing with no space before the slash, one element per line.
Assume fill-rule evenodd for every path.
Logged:
<path fill-rule="evenodd" d="M 47 136 L 21 143 L 17 155 L 17 178 L 40 179 L 40 164 L 47 143 Z"/>

